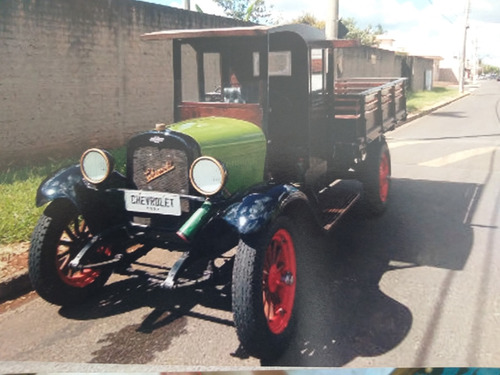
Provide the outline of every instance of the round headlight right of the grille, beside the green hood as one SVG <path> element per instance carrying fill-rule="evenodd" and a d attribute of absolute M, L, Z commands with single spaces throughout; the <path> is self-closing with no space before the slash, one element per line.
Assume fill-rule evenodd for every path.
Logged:
<path fill-rule="evenodd" d="M 194 188 L 203 195 L 214 195 L 226 183 L 226 169 L 216 159 L 202 156 L 191 165 L 189 178 Z"/>

